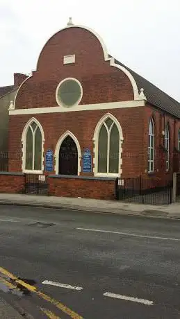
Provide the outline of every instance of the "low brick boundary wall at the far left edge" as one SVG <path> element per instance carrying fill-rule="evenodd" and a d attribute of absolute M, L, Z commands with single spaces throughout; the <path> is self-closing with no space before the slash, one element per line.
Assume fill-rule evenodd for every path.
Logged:
<path fill-rule="evenodd" d="M 0 172 L 0 193 L 22 193 L 24 178 L 23 173 Z"/>

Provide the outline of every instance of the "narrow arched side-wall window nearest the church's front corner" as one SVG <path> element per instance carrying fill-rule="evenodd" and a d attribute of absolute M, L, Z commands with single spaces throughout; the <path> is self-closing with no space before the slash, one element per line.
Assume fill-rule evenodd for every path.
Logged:
<path fill-rule="evenodd" d="M 148 132 L 148 172 L 154 171 L 154 121 L 149 121 Z"/>

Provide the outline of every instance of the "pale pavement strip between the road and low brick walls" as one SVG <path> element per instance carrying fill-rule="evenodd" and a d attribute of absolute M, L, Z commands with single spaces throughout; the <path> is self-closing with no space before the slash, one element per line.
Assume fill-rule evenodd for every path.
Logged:
<path fill-rule="evenodd" d="M 116 200 L 0 193 L 0 204 L 46 207 L 51 209 L 74 209 L 95 213 L 126 214 L 153 218 L 180 218 L 180 202 L 158 206 Z"/>

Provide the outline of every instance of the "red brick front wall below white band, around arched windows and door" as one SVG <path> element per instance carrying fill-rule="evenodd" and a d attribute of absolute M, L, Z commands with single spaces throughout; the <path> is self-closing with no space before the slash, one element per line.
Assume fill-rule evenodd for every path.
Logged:
<path fill-rule="evenodd" d="M 58 139 L 70 130 L 78 139 L 81 152 L 90 148 L 93 154 L 93 135 L 101 117 L 111 113 L 120 122 L 124 142 L 122 144 L 123 177 L 138 176 L 142 168 L 142 145 L 144 133 L 144 107 L 122 108 L 115 110 L 95 110 L 82 112 L 63 112 L 51 114 L 13 115 L 10 117 L 9 150 L 10 171 L 22 171 L 22 131 L 27 121 L 35 117 L 44 130 L 44 153 L 50 148 L 55 150 Z M 78 123 L 78 125 L 77 125 Z M 136 123 L 136 125 L 134 125 Z M 92 173 L 93 175 L 93 173 Z"/>

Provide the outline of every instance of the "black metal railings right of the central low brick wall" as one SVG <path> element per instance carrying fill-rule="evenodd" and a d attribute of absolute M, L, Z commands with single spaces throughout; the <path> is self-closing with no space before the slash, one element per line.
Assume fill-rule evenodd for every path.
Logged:
<path fill-rule="evenodd" d="M 150 205 L 172 203 L 172 180 L 158 178 L 117 178 L 115 194 L 117 200 Z"/>

